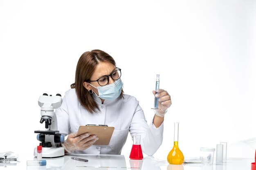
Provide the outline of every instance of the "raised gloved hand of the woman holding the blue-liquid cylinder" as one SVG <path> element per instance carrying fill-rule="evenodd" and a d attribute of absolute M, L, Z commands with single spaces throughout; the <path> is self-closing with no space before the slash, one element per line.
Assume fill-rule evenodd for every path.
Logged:
<path fill-rule="evenodd" d="M 157 110 L 157 113 L 164 115 L 164 113 L 166 113 L 166 109 L 169 108 L 172 104 L 171 96 L 167 91 L 163 89 L 157 89 L 157 94 L 155 94 L 155 91 L 153 91 L 153 94 L 158 98 L 159 109 Z"/>

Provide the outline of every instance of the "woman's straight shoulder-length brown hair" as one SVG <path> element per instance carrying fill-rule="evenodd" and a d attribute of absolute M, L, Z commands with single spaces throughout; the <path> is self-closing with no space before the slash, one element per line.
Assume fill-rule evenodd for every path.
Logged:
<path fill-rule="evenodd" d="M 96 66 L 100 62 L 110 62 L 116 66 L 115 60 L 108 55 L 108 53 L 101 50 L 86 51 L 79 58 L 76 65 L 75 82 L 70 85 L 71 88 L 76 89 L 76 95 L 79 102 L 85 107 L 90 113 L 97 113 L 99 106 L 94 101 L 92 94 L 83 86 L 83 82 L 88 82 L 90 77 L 94 73 Z M 121 91 L 120 96 L 123 97 L 124 91 Z"/>

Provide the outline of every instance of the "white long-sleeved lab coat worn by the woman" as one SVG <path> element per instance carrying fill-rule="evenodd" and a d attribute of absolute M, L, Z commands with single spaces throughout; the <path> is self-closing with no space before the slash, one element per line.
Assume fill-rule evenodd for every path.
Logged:
<path fill-rule="evenodd" d="M 151 121 L 148 126 L 135 97 L 124 94 L 124 98 L 105 100 L 103 104 L 95 94 L 93 97 L 99 106 L 98 113 L 88 112 L 80 104 L 75 89 L 68 90 L 61 107 L 56 109 L 58 130 L 61 134 L 68 135 L 77 132 L 79 126 L 86 124 L 105 124 L 115 127 L 115 130 L 108 146 L 92 145 L 74 153 L 120 155 L 128 132 L 130 135 L 141 135 L 141 148 L 146 155 L 153 155 L 157 151 L 162 144 L 164 125 L 162 123 L 156 128 Z"/>

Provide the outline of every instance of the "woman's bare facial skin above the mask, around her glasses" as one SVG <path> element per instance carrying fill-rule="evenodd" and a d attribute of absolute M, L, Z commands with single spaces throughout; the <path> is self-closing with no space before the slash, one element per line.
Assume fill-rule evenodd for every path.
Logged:
<path fill-rule="evenodd" d="M 90 78 L 90 80 L 94 81 L 94 80 L 97 80 L 99 78 L 101 78 L 102 76 L 104 75 L 110 75 L 113 71 L 116 70 L 116 67 L 115 65 L 113 65 L 112 63 L 110 62 L 100 62 L 95 70 L 94 70 L 94 73 L 92 74 L 92 77 Z M 112 84 L 114 83 L 115 80 L 113 80 L 110 76 L 109 76 L 109 82 L 108 84 Z M 85 82 L 86 83 L 86 82 Z M 92 86 L 90 85 L 92 84 Z M 98 93 L 98 89 L 95 88 L 95 87 L 98 87 L 100 86 L 98 82 L 90 82 L 90 84 L 88 83 L 87 86 L 85 86 L 85 88 L 89 88 L 89 89 L 92 89 L 92 91 L 94 91 L 97 95 L 99 95 Z M 93 87 L 95 86 L 95 87 Z"/>

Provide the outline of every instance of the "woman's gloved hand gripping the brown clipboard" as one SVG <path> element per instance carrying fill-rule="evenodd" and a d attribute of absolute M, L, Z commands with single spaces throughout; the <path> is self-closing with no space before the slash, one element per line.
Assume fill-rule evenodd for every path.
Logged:
<path fill-rule="evenodd" d="M 77 136 L 77 132 L 70 133 L 67 139 L 61 143 L 63 148 L 72 153 L 74 150 L 85 150 L 92 146 L 99 138 L 97 135 L 90 135 L 90 133 L 84 133 Z"/>

